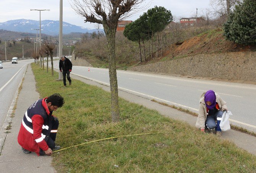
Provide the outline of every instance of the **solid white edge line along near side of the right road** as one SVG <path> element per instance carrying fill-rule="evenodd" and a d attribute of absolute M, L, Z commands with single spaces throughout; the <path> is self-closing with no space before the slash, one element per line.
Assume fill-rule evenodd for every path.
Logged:
<path fill-rule="evenodd" d="M 56 69 L 56 68 L 55 68 L 55 69 Z M 101 81 L 99 81 L 99 80 L 95 80 L 95 79 L 92 79 L 92 78 L 89 78 L 89 77 L 85 77 L 85 76 L 82 76 L 82 75 L 78 75 L 78 74 L 74 74 L 74 73 L 71 73 L 71 74 L 77 75 L 77 76 L 82 77 L 82 78 L 86 78 L 86 79 L 88 79 L 88 80 L 95 81 L 95 82 L 97 82 L 97 83 L 100 83 L 100 84 L 103 84 L 103 85 L 106 85 L 106 86 L 110 86 L 109 83 L 101 82 Z M 137 92 L 137 91 L 129 90 L 129 89 L 122 88 L 122 87 L 119 87 L 119 86 L 118 86 L 118 89 L 130 91 L 130 92 L 137 93 L 137 94 L 140 94 L 140 95 L 144 95 L 144 96 L 147 96 L 147 97 L 150 97 L 150 98 L 158 99 L 158 100 L 160 100 L 160 101 L 165 101 L 165 102 L 167 102 L 167 103 L 171 103 L 171 104 L 174 104 L 174 105 L 177 105 L 177 106 L 185 107 L 185 108 L 187 108 L 187 109 L 192 109 L 192 110 L 194 110 L 194 111 L 199 111 L 198 109 L 195 109 L 195 108 L 193 108 L 193 107 L 189 107 L 189 106 L 185 106 L 185 105 L 182 105 L 182 104 L 174 103 L 174 102 L 171 102 L 171 101 L 168 101 L 168 100 L 164 100 L 164 99 L 161 99 L 161 98 L 157 98 L 157 97 L 154 97 L 154 96 L 151 96 L 151 95 L 146 95 L 146 94 L 144 94 L 144 93 L 139 93 L 139 92 Z M 242 124 L 242 125 L 245 125 L 245 126 L 248 126 L 248 127 L 256 128 L 255 125 L 251 125 L 251 124 L 244 123 L 244 122 L 240 122 L 240 121 L 233 120 L 233 119 L 229 119 L 229 120 L 230 120 L 231 122 L 235 122 L 235 123 Z"/>

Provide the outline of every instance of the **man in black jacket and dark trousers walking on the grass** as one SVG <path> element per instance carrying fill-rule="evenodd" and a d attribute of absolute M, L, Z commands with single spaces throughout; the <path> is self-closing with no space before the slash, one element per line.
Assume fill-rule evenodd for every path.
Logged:
<path fill-rule="evenodd" d="M 72 63 L 71 61 L 66 58 L 65 56 L 60 57 L 60 72 L 62 72 L 63 75 L 63 84 L 66 86 L 66 78 L 68 79 L 69 85 L 71 85 L 71 78 L 70 78 L 70 72 L 72 71 Z"/>

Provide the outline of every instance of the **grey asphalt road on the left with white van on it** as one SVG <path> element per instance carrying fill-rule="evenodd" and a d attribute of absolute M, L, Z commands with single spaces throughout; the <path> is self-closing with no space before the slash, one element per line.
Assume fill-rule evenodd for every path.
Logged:
<path fill-rule="evenodd" d="M 33 59 L 18 60 L 18 64 L 3 62 L 3 69 L 0 69 L 0 127 L 8 113 L 9 107 L 18 85 L 23 77 L 26 64 L 34 62 Z"/>

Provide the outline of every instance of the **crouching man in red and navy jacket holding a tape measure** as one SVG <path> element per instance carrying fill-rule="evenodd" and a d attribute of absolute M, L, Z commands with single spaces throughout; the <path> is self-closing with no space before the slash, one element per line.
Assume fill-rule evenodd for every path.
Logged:
<path fill-rule="evenodd" d="M 26 111 L 18 134 L 18 143 L 24 153 L 35 152 L 39 155 L 52 155 L 55 146 L 59 121 L 52 115 L 64 104 L 60 94 L 53 94 L 48 98 L 39 99 Z"/>

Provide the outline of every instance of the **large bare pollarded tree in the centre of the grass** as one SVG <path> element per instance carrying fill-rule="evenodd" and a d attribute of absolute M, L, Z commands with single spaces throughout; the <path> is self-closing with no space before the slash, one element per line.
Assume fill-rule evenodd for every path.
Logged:
<path fill-rule="evenodd" d="M 102 24 L 107 37 L 109 78 L 111 92 L 112 122 L 119 121 L 118 86 L 115 57 L 115 34 L 119 20 L 138 11 L 145 0 L 71 0 L 75 12 L 85 18 L 85 22 Z"/>

